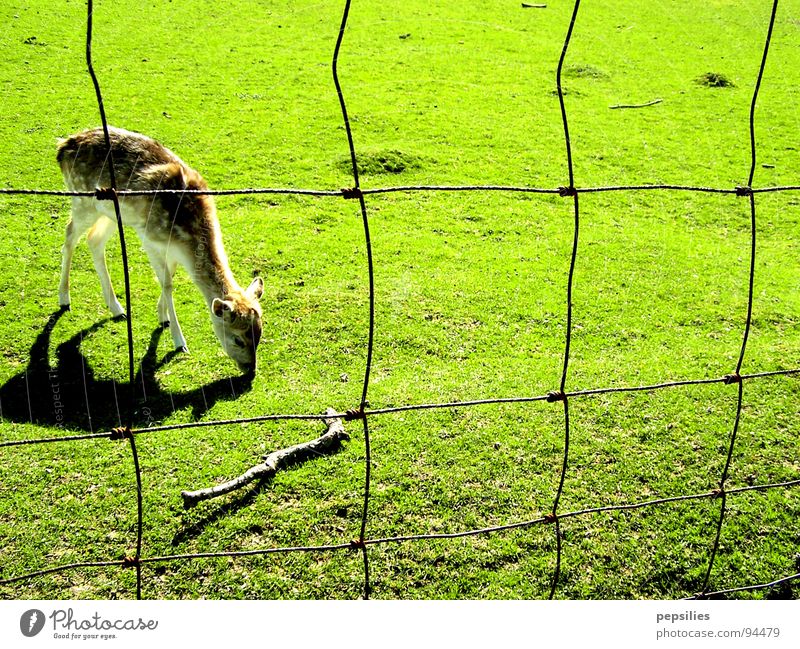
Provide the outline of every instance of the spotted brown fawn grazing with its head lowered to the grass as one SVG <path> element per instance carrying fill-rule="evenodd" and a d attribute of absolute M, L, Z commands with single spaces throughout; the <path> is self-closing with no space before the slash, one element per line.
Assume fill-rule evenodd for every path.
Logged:
<path fill-rule="evenodd" d="M 182 193 L 206 190 L 208 185 L 194 169 L 155 140 L 123 129 L 109 128 L 111 151 L 101 128 L 72 135 L 58 144 L 57 160 L 67 187 L 94 191 L 111 184 L 108 165 L 113 160 L 120 190 L 178 190 L 176 193 L 119 196 L 124 225 L 139 235 L 161 284 L 158 320 L 169 327 L 175 349 L 187 351 L 172 301 L 172 278 L 181 264 L 203 294 L 211 311 L 214 333 L 225 353 L 242 372 L 256 369 L 256 347 L 261 337 L 261 278 L 243 289 L 233 277 L 222 245 L 222 235 L 212 196 Z M 62 248 L 59 303 L 69 308 L 69 272 L 80 237 L 87 242 L 100 277 L 103 298 L 115 317 L 126 317 L 111 286 L 105 246 L 116 232 L 112 201 L 89 196 L 72 198 L 72 218 Z"/>

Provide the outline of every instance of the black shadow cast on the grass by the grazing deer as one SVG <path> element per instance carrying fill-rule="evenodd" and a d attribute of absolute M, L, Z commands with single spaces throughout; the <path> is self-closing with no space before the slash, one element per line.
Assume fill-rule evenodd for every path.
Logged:
<path fill-rule="evenodd" d="M 131 385 L 98 377 L 81 353 L 81 343 L 112 319 L 87 327 L 55 348 L 55 365 L 49 360 L 52 332 L 66 312 L 60 309 L 47 320 L 30 348 L 28 366 L 0 386 L 0 422 L 33 423 L 67 430 L 102 432 L 127 423 Z M 199 419 L 217 401 L 229 401 L 252 387 L 251 375 L 218 379 L 184 392 L 169 392 L 156 381 L 156 372 L 176 354 L 158 359 L 163 328 L 150 335 L 147 352 L 133 381 L 133 426 L 146 427 L 176 410 L 190 407 Z"/>

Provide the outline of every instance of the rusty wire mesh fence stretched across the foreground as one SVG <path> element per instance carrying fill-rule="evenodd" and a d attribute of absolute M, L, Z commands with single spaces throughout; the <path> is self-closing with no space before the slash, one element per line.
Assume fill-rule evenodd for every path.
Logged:
<path fill-rule="evenodd" d="M 352 187 L 338 190 L 323 190 L 323 189 L 291 189 L 291 188 L 250 188 L 250 189 L 233 189 L 233 190 L 180 190 L 180 193 L 196 193 L 205 195 L 251 195 L 251 194 L 289 194 L 298 196 L 314 196 L 314 197 L 338 197 L 346 200 L 358 201 L 361 219 L 363 223 L 364 241 L 366 244 L 366 257 L 367 257 L 367 270 L 369 282 L 369 325 L 367 333 L 367 352 L 366 362 L 364 368 L 364 378 L 361 389 L 361 401 L 357 408 L 343 411 L 338 415 L 331 414 L 265 414 L 261 416 L 236 418 L 227 420 L 214 420 L 214 421 L 194 421 L 189 423 L 162 425 L 162 426 L 149 426 L 145 428 L 134 427 L 134 405 L 135 405 L 135 366 L 134 366 L 134 342 L 132 331 L 132 318 L 127 319 L 127 351 L 128 351 L 128 373 L 130 378 L 130 395 L 126 401 L 127 412 L 124 417 L 124 425 L 115 428 L 112 431 L 103 433 L 90 433 L 83 435 L 69 435 L 60 437 L 48 437 L 37 439 L 22 439 L 0 442 L 0 448 L 8 448 L 12 446 L 33 445 L 33 444 L 54 444 L 59 442 L 74 442 L 79 440 L 90 439 L 120 439 L 126 440 L 130 446 L 131 461 L 133 463 L 134 472 L 136 476 L 136 545 L 135 550 L 131 556 L 125 557 L 120 560 L 108 561 L 91 561 L 79 562 L 62 565 L 54 565 L 50 568 L 29 572 L 9 578 L 0 579 L 0 585 L 10 585 L 27 580 L 32 580 L 36 577 L 44 575 L 62 573 L 74 570 L 83 570 L 98 567 L 116 567 L 124 570 L 134 570 L 136 573 L 136 597 L 141 599 L 143 577 L 142 567 L 146 564 L 168 564 L 179 561 L 188 561 L 201 558 L 218 558 L 218 557 L 248 557 L 248 556 L 261 556 L 277 553 L 299 553 L 299 552 L 338 552 L 338 551 L 353 551 L 356 550 L 361 553 L 363 559 L 363 596 L 365 598 L 370 596 L 371 592 L 371 577 L 370 577 L 370 555 L 369 548 L 377 545 L 386 545 L 392 543 L 401 543 L 409 541 L 431 541 L 436 539 L 455 539 L 470 536 L 477 536 L 483 534 L 497 533 L 513 529 L 529 528 L 538 525 L 552 525 L 554 528 L 554 535 L 556 541 L 555 560 L 552 577 L 550 580 L 549 598 L 556 595 L 557 588 L 561 581 L 561 566 L 563 557 L 563 547 L 561 533 L 561 522 L 570 518 L 596 514 L 599 512 L 616 512 L 616 511 L 630 511 L 636 509 L 643 509 L 648 507 L 655 507 L 659 505 L 666 505 L 670 503 L 682 501 L 696 501 L 696 500 L 714 500 L 719 502 L 719 513 L 716 518 L 714 526 L 714 535 L 711 539 L 711 550 L 709 553 L 708 564 L 705 575 L 702 581 L 702 587 L 696 593 L 691 594 L 690 598 L 709 598 L 719 597 L 729 594 L 735 594 L 743 591 L 764 590 L 800 579 L 800 573 L 786 575 L 776 578 L 769 583 L 756 583 L 748 584 L 737 587 L 732 587 L 724 590 L 711 591 L 709 584 L 711 581 L 712 571 L 714 569 L 715 561 L 719 552 L 720 537 L 722 529 L 726 520 L 726 514 L 729 508 L 729 498 L 738 494 L 747 493 L 751 491 L 767 491 L 775 489 L 787 489 L 800 486 L 800 479 L 789 480 L 784 482 L 757 484 L 747 487 L 729 488 L 727 486 L 729 470 L 731 462 L 734 457 L 736 449 L 737 434 L 739 432 L 739 423 L 742 414 L 744 385 L 752 380 L 764 380 L 777 376 L 791 376 L 800 374 L 800 368 L 778 370 L 771 372 L 760 372 L 745 374 L 742 373 L 744 359 L 747 350 L 748 338 L 753 320 L 753 286 L 755 279 L 756 268 L 756 235 L 757 235 L 757 212 L 756 212 L 756 195 L 767 192 L 789 192 L 800 190 L 800 185 L 786 185 L 774 187 L 760 187 L 754 188 L 753 178 L 756 168 L 756 137 L 755 137 L 755 113 L 756 103 L 758 100 L 759 89 L 764 75 L 764 69 L 767 62 L 767 56 L 770 49 L 770 42 L 772 39 L 773 27 L 775 25 L 775 18 L 778 9 L 778 0 L 773 0 L 769 25 L 767 28 L 761 63 L 758 71 L 758 76 L 755 82 L 755 89 L 752 96 L 750 105 L 750 153 L 751 164 L 748 175 L 748 182 L 745 186 L 737 187 L 703 187 L 703 186 L 687 186 L 687 185 L 629 185 L 629 186 L 604 186 L 604 187 L 576 187 L 574 178 L 574 166 L 572 158 L 572 145 L 569 134 L 569 121 L 568 111 L 564 102 L 564 88 L 562 85 L 562 70 L 564 61 L 566 59 L 569 46 L 572 40 L 573 31 L 575 29 L 578 15 L 580 13 L 580 0 L 575 0 L 572 14 L 564 38 L 561 56 L 558 61 L 556 71 L 556 87 L 558 92 L 559 105 L 561 109 L 561 118 L 564 131 L 564 143 L 566 162 L 568 170 L 568 182 L 561 187 L 541 188 L 541 187 L 525 187 L 525 186 L 505 186 L 505 185 L 418 185 L 418 186 L 395 186 L 383 188 L 367 188 L 362 189 L 359 179 L 359 166 L 358 155 L 356 146 L 353 139 L 350 119 L 347 112 L 347 104 L 345 95 L 339 81 L 338 61 L 339 53 L 344 41 L 346 28 L 348 24 L 348 17 L 350 15 L 351 0 L 345 0 L 341 25 L 336 39 L 336 45 L 333 52 L 333 59 L 331 64 L 331 72 L 333 82 L 336 88 L 336 93 L 339 99 L 341 108 L 341 115 L 344 124 L 344 129 L 347 135 L 348 147 L 350 152 L 350 162 L 352 165 L 353 185 Z M 106 119 L 105 107 L 103 103 L 103 95 L 101 92 L 101 85 L 95 74 L 92 65 L 92 17 L 93 17 L 93 2 L 87 2 L 87 22 L 86 22 L 86 66 L 88 73 L 91 77 L 94 86 L 95 94 L 97 97 L 97 105 L 100 113 L 100 119 L 103 126 L 105 135 L 106 146 L 111 152 L 111 142 L 109 137 L 108 121 Z M 98 188 L 94 192 L 81 192 L 81 191 L 55 191 L 55 190 L 36 190 L 36 189 L 0 189 L 0 194 L 5 195 L 44 195 L 44 196 L 94 196 L 98 200 L 108 200 L 113 202 L 114 211 L 116 214 L 118 232 L 120 236 L 121 249 L 122 249 L 122 268 L 124 273 L 125 282 L 125 307 L 126 312 L 131 314 L 131 287 L 130 277 L 128 271 L 127 250 L 125 245 L 125 234 L 122 227 L 122 218 L 120 214 L 120 198 L 126 196 L 141 196 L 141 195 L 157 195 L 166 193 L 176 193 L 179 190 L 148 190 L 148 191 L 132 191 L 118 189 L 116 178 L 114 177 L 113 163 L 108 165 L 111 174 L 111 183 L 109 187 Z M 623 387 L 599 387 L 581 391 L 568 390 L 568 378 L 570 369 L 570 347 L 573 335 L 573 284 L 575 266 L 579 254 L 579 234 L 581 231 L 580 223 L 580 196 L 582 194 L 599 193 L 599 192 L 619 192 L 619 191 L 682 191 L 682 192 L 705 192 L 715 194 L 731 194 L 737 197 L 747 198 L 750 205 L 750 249 L 749 249 L 749 273 L 748 273 L 748 291 L 747 291 L 747 314 L 745 318 L 745 325 L 742 332 L 742 342 L 739 350 L 738 361 L 735 368 L 731 373 L 719 377 L 703 377 L 695 380 L 681 380 L 671 381 L 652 385 L 640 386 L 623 386 Z M 572 202 L 573 207 L 573 232 L 572 232 L 572 246 L 570 254 L 569 274 L 566 287 L 566 328 L 564 332 L 564 348 L 563 348 L 563 364 L 561 370 L 561 380 L 557 389 L 542 395 L 525 396 L 525 397 L 511 397 L 511 398 L 487 398 L 469 401 L 454 401 L 447 403 L 419 403 L 408 404 L 403 406 L 376 408 L 369 407 L 368 394 L 370 388 L 370 373 L 373 365 L 373 348 L 374 348 L 374 334 L 375 334 L 375 266 L 373 261 L 372 240 L 370 236 L 370 219 L 367 209 L 366 197 L 387 194 L 387 193 L 413 193 L 413 192 L 518 192 L 529 194 L 547 194 L 558 195 L 568 198 Z M 646 500 L 642 502 L 627 503 L 620 505 L 609 505 L 601 507 L 593 507 L 580 509 L 575 511 L 562 511 L 560 508 L 561 498 L 564 493 L 565 477 L 568 471 L 570 462 L 570 403 L 573 399 L 585 398 L 594 395 L 611 394 L 611 393 L 624 393 L 624 392 L 653 392 L 657 390 L 677 388 L 684 386 L 697 386 L 708 384 L 724 384 L 737 386 L 737 399 L 734 411 L 734 421 L 732 430 L 730 432 L 727 450 L 725 453 L 725 464 L 721 475 L 719 476 L 717 487 L 715 489 L 685 494 L 666 498 L 657 498 Z M 560 403 L 564 412 L 564 431 L 563 431 L 563 458 L 562 466 L 559 472 L 558 486 L 553 498 L 552 507 L 550 511 L 543 516 L 535 519 L 509 523 L 506 525 L 497 525 L 491 527 L 483 527 L 479 529 L 470 529 L 462 532 L 455 533 L 431 533 L 431 534 L 418 534 L 407 536 L 394 536 L 386 538 L 370 538 L 367 535 L 367 525 L 369 521 L 370 509 L 370 486 L 371 486 L 371 466 L 372 466 L 372 451 L 370 444 L 370 420 L 374 417 L 387 415 L 391 413 L 405 412 L 405 411 L 422 411 L 433 409 L 445 408 L 468 408 L 478 405 L 496 405 L 507 403 L 531 403 L 531 402 L 549 402 Z M 220 551 L 220 552 L 205 552 L 194 554 L 174 554 L 164 556 L 147 556 L 143 553 L 142 547 L 142 530 L 144 521 L 144 508 L 142 503 L 142 471 L 139 464 L 137 453 L 136 439 L 145 433 L 156 433 L 169 430 L 185 430 L 191 428 L 203 427 L 221 427 L 228 425 L 238 425 L 244 423 L 257 423 L 265 421 L 279 421 L 279 420 L 323 420 L 331 416 L 341 417 L 349 421 L 360 421 L 363 426 L 364 444 L 365 444 L 365 457 L 364 457 L 364 485 L 363 485 L 363 506 L 361 510 L 361 524 L 360 532 L 357 539 L 347 541 L 339 544 L 332 545 L 316 545 L 306 547 L 270 547 L 264 549 L 248 550 L 248 551 Z"/>

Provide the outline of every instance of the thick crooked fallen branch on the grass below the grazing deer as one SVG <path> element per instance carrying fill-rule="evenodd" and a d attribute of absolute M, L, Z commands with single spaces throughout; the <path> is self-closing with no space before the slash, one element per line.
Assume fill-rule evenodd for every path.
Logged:
<path fill-rule="evenodd" d="M 329 415 L 329 417 L 323 419 L 327 429 L 320 437 L 310 442 L 303 442 L 289 448 L 273 451 L 264 456 L 264 461 L 261 464 L 251 467 L 239 477 L 223 484 L 198 489 L 197 491 L 182 491 L 184 509 L 190 509 L 202 500 L 217 498 L 236 489 L 241 489 L 254 480 L 269 480 L 275 477 L 278 471 L 288 466 L 301 464 L 313 457 L 338 451 L 342 441 L 350 439 L 350 436 L 345 432 L 342 420 L 332 416 L 336 414 L 333 408 L 328 408 L 325 414 Z"/>

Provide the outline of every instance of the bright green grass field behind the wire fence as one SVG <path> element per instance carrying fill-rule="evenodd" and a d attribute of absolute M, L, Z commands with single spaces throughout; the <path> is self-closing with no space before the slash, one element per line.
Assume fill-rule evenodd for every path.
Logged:
<path fill-rule="evenodd" d="M 331 78 L 343 3 L 96 3 L 94 61 L 111 124 L 151 135 L 214 189 L 352 185 Z M 474 5 L 474 6 L 473 6 Z M 732 188 L 750 169 L 748 116 L 771 3 L 582 3 L 564 65 L 578 187 Z M 556 67 L 572 2 L 353 2 L 339 74 L 364 188 L 568 184 Z M 99 123 L 85 69 L 85 4 L 5 3 L 0 187 L 62 189 L 58 137 Z M 797 185 L 800 2 L 781 0 L 756 112 L 755 187 Z M 722 75 L 726 87 L 698 82 Z M 636 109 L 611 109 L 642 104 Z M 510 192 L 368 196 L 375 263 L 371 408 L 558 388 L 573 236 L 571 199 Z M 735 369 L 747 312 L 750 210 L 730 194 L 582 194 L 567 389 L 718 378 Z M 800 367 L 797 192 L 757 194 L 753 327 L 744 373 Z M 252 382 L 238 376 L 182 271 L 190 346 L 157 330 L 159 288 L 128 237 L 138 427 L 355 408 L 368 330 L 356 201 L 217 199 L 236 277 L 266 282 Z M 0 442 L 123 423 L 126 326 L 108 319 L 90 255 L 57 314 L 63 197 L 0 196 Z M 119 244 L 109 246 L 118 295 Z M 59 386 L 62 418 L 52 387 Z M 560 512 L 715 489 L 736 386 L 570 401 Z M 747 381 L 726 487 L 800 477 L 797 376 Z M 147 557 L 357 538 L 365 444 L 184 511 L 180 492 L 305 441 L 317 422 L 142 433 Z M 454 533 L 551 510 L 564 455 L 560 404 L 482 405 L 370 418 L 370 538 Z M 0 580 L 118 560 L 136 540 L 129 447 L 106 439 L 0 448 Z M 702 587 L 719 502 L 689 500 L 561 522 L 559 598 L 678 598 Z M 552 526 L 370 547 L 375 598 L 542 598 Z M 800 491 L 728 498 L 710 587 L 800 570 Z M 360 554 L 270 554 L 147 564 L 148 598 L 354 598 Z M 737 597 L 790 597 L 796 585 Z M 98 567 L 0 585 L 4 598 L 129 598 L 133 571 Z"/>

